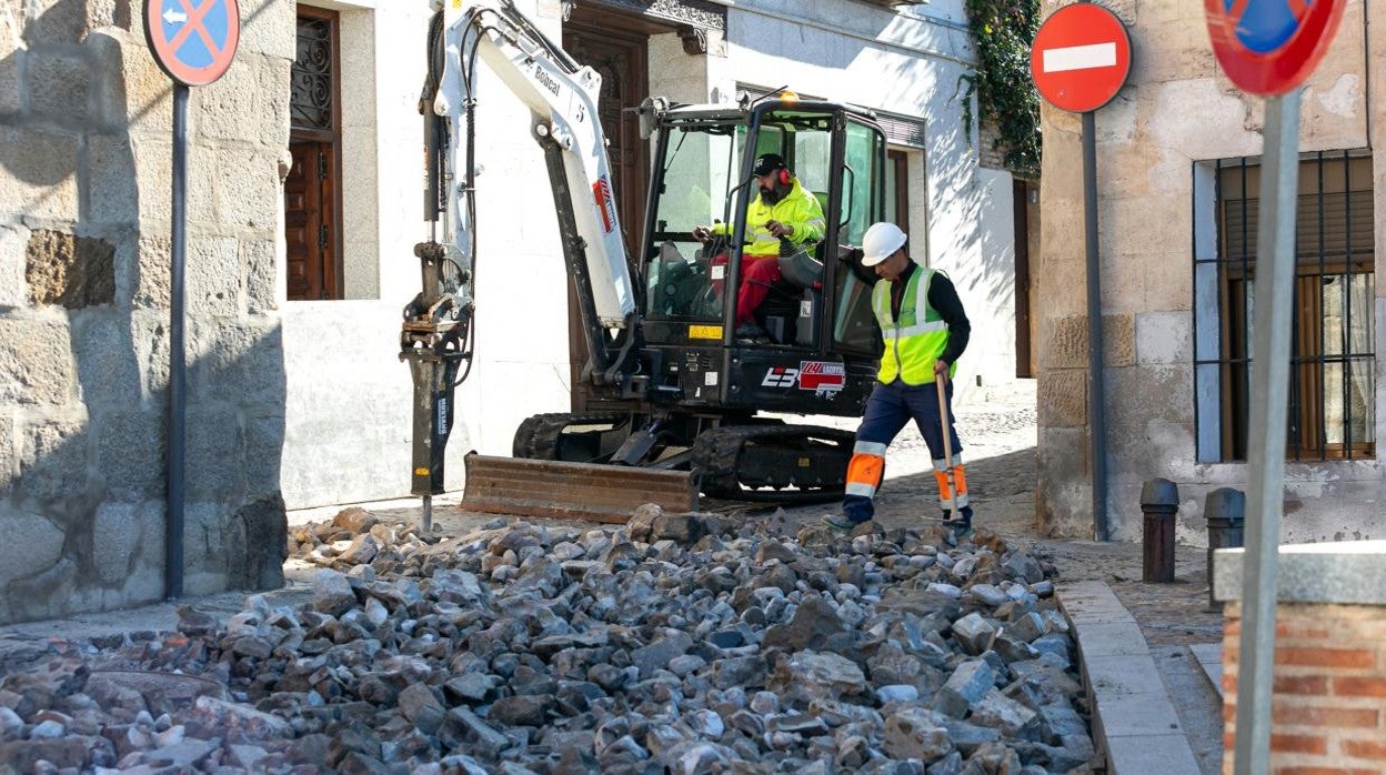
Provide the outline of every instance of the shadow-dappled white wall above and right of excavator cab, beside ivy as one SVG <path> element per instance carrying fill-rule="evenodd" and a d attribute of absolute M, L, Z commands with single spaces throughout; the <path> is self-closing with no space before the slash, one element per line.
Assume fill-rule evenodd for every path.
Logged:
<path fill-rule="evenodd" d="M 1015 381 L 1015 227 L 1010 175 L 977 166 L 976 133 L 963 123 L 958 85 L 974 60 L 963 18 L 959 3 L 895 14 L 845 0 L 746 0 L 728 8 L 721 76 L 926 122 L 927 165 L 912 159 L 909 195 L 912 233 L 929 227 L 913 252 L 962 280 L 973 323 L 958 378 L 967 402 L 983 397 L 979 373 L 987 388 Z"/>

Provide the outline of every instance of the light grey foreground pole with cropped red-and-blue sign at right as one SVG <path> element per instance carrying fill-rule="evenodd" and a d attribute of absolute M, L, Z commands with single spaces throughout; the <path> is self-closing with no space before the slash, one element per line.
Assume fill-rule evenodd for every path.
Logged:
<path fill-rule="evenodd" d="M 1252 349 L 1252 481 L 1246 512 L 1242 635 L 1238 642 L 1236 746 L 1232 771 L 1271 771 L 1275 611 L 1285 510 L 1290 333 L 1295 326 L 1295 226 L 1299 193 L 1299 89 L 1324 58 L 1343 0 L 1289 10 L 1274 0 L 1204 0 L 1209 37 L 1222 72 L 1264 96 L 1265 134 L 1257 225 Z"/>

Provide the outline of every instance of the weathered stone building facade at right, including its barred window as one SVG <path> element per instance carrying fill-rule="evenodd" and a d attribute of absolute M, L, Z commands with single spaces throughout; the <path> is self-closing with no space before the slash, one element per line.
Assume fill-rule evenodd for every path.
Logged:
<path fill-rule="evenodd" d="M 1206 494 L 1243 488 L 1263 101 L 1217 69 L 1193 0 L 1103 3 L 1132 69 L 1096 114 L 1109 523 L 1141 535 L 1145 480 L 1179 485 L 1181 539 L 1206 541 Z M 1303 92 L 1286 541 L 1379 538 L 1383 476 L 1382 10 L 1346 4 Z M 1368 18 L 1371 17 L 1371 18 Z M 1368 24 L 1371 22 L 1371 24 Z M 1374 79 L 1374 75 L 1378 78 Z M 1375 98 L 1374 98 L 1375 97 Z M 1092 531 L 1080 119 L 1044 111 L 1037 262 L 1038 519 Z M 1053 214 L 1070 214 L 1056 218 Z"/>

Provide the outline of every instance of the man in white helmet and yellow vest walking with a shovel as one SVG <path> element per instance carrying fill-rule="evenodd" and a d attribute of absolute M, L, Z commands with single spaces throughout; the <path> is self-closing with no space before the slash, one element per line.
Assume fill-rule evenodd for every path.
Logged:
<path fill-rule="evenodd" d="M 851 530 L 872 519 L 873 499 L 886 474 L 886 448 L 913 419 L 934 460 L 944 524 L 965 538 L 972 532 L 972 505 L 949 403 L 951 377 L 967 348 L 972 324 L 952 280 L 915 263 L 906 243 L 894 223 L 873 223 L 862 238 L 862 265 L 875 268 L 880 277 L 872 291 L 872 309 L 886 352 L 857 428 L 843 513 L 826 516 L 823 523 Z"/>

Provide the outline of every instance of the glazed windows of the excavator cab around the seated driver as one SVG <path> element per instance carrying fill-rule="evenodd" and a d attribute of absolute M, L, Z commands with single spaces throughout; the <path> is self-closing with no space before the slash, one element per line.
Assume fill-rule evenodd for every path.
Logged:
<path fill-rule="evenodd" d="M 861 244 L 866 226 L 881 218 L 880 129 L 826 105 L 780 105 L 753 118 L 703 114 L 663 128 L 643 256 L 646 319 L 699 330 L 723 322 L 725 305 L 732 304 L 726 294 L 735 287 L 726 276 L 729 243 L 737 232 L 753 240 L 737 223 L 746 216 L 740 208 L 758 194 L 743 166 L 750 158 L 778 154 L 798 186 L 818 200 L 829 229 L 821 243 L 801 245 L 796 270 L 780 262 L 784 277 L 771 286 L 757 322 L 772 345 L 872 354 L 879 347 L 870 311 L 873 277 L 827 265 L 837 262 L 839 245 Z M 696 240 L 697 226 L 712 226 L 714 237 Z"/>

